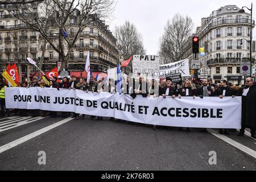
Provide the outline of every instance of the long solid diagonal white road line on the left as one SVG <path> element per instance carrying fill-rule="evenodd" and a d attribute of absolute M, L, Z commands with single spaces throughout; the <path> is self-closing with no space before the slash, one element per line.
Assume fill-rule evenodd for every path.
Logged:
<path fill-rule="evenodd" d="M 47 127 L 44 127 L 43 129 L 40 129 L 38 131 L 35 131 L 34 133 L 31 133 L 31 134 L 28 134 L 26 135 L 25 137 L 22 137 L 22 138 L 19 138 L 17 140 L 14 140 L 13 142 L 10 142 L 10 143 L 7 143 L 5 144 L 4 146 L 1 146 L 0 147 L 0 154 L 2 152 L 5 152 L 13 147 L 16 147 L 18 146 L 19 144 L 22 144 L 24 142 L 27 142 L 28 140 L 32 139 L 32 138 L 35 138 L 35 137 L 38 137 L 39 135 L 43 134 L 43 133 L 46 133 L 47 131 L 49 130 L 52 130 L 54 129 L 55 127 L 58 127 L 60 125 L 63 125 L 64 123 L 67 123 L 69 121 L 71 121 L 73 118 L 67 118 L 67 119 L 64 119 L 62 121 L 59 121 L 57 123 L 54 123 L 53 125 L 50 125 L 50 126 L 47 126 Z"/>

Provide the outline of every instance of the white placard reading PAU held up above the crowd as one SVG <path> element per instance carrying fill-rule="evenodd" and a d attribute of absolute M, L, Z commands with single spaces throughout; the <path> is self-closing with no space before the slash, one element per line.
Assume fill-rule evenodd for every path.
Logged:
<path fill-rule="evenodd" d="M 133 73 L 158 73 L 160 57 L 155 55 L 134 55 Z"/>

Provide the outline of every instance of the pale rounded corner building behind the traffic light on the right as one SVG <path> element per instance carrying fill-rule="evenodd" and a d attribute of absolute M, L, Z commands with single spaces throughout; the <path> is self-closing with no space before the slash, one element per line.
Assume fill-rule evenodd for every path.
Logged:
<path fill-rule="evenodd" d="M 228 80 L 241 85 L 241 61 L 250 61 L 250 14 L 239 13 L 239 7 L 228 5 L 201 19 L 197 28 L 200 47 L 206 55 L 201 61 L 201 77 L 212 77 L 215 83 Z M 253 28 L 255 21 L 253 20 Z"/>

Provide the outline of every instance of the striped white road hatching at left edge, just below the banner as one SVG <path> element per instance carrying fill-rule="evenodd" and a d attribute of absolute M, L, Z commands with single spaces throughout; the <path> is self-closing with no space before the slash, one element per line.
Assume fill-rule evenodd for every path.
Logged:
<path fill-rule="evenodd" d="M 48 118 L 48 117 L 44 117 L 44 118 Z M 18 126 L 22 126 L 22 125 L 26 125 L 28 123 L 32 123 L 32 122 L 35 122 L 35 121 L 38 121 L 40 119 L 44 119 L 42 117 L 35 117 L 35 118 L 28 118 L 26 120 L 17 120 L 17 121 L 13 121 L 11 123 L 5 123 L 5 125 L 0 125 L 0 133 L 2 131 L 6 131 L 6 130 L 10 130 L 10 129 L 13 129 L 14 127 L 18 127 Z"/>

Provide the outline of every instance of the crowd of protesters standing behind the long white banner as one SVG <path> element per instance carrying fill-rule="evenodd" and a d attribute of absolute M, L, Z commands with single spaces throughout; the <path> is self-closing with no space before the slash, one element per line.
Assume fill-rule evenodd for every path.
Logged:
<path fill-rule="evenodd" d="M 49 85 L 46 82 L 49 82 Z M 64 77 L 61 82 L 57 82 L 58 78 L 53 77 L 52 80 L 48 78 L 44 80 L 38 77 L 32 77 L 31 82 L 23 81 L 20 83 L 20 87 L 41 87 L 41 88 L 55 88 L 59 89 L 79 89 L 85 92 L 117 92 L 116 82 L 113 79 L 109 79 L 107 86 L 101 86 L 101 81 L 94 80 L 93 77 L 90 78 L 89 83 L 86 82 L 86 78 L 77 79 L 76 76 L 71 78 Z M 5 108 L 5 88 L 8 85 L 0 78 L 0 104 L 1 104 L 1 116 L 10 116 L 9 110 Z M 218 84 L 213 84 L 212 78 L 203 79 L 201 81 L 189 81 L 185 80 L 182 84 L 173 84 L 170 78 L 166 78 L 162 82 L 157 83 L 155 79 L 145 79 L 143 76 L 139 76 L 138 80 L 133 78 L 130 80 L 129 76 L 123 79 L 123 93 L 130 94 L 132 98 L 137 97 L 137 95 L 142 95 L 142 97 L 158 97 L 162 96 L 166 98 L 168 96 L 174 99 L 181 99 L 182 97 L 219 97 L 220 99 L 230 96 L 242 96 L 242 129 L 239 136 L 242 136 L 245 133 L 245 128 L 251 129 L 251 137 L 256 138 L 255 129 L 256 129 L 256 86 L 252 78 L 246 78 L 245 85 L 233 85 L 232 83 L 222 80 Z M 44 111 L 44 110 L 31 110 L 31 115 L 34 117 L 57 117 L 56 111 Z M 23 117 L 28 115 L 28 110 L 20 109 L 19 114 Z M 40 115 L 39 115 L 40 114 Z M 68 113 L 61 112 L 62 117 L 73 117 L 80 119 L 80 114 L 78 113 Z M 85 115 L 81 115 L 81 119 L 84 119 Z M 96 119 L 96 116 L 90 116 L 90 119 Z M 102 117 L 98 117 L 102 120 Z M 114 120 L 114 118 L 110 118 Z M 156 126 L 153 126 L 153 129 L 156 129 Z M 183 130 L 182 127 L 179 127 L 179 131 Z M 186 131 L 190 131 L 189 128 Z M 201 132 L 207 132 L 207 129 L 200 129 Z M 228 129 L 219 129 L 219 133 L 229 135 L 229 132 L 232 130 Z"/>

